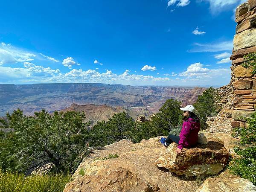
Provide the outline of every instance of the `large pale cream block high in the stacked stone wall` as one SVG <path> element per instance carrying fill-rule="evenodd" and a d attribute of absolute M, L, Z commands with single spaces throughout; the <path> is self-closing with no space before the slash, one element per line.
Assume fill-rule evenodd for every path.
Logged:
<path fill-rule="evenodd" d="M 235 35 L 233 51 L 253 46 L 256 46 L 256 29 L 247 29 Z"/>

